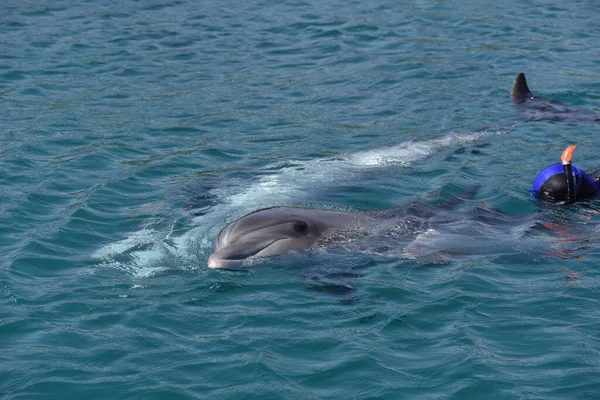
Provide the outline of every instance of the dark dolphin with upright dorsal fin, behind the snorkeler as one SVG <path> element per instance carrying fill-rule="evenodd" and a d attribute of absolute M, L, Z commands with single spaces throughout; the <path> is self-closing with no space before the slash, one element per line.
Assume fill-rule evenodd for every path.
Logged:
<path fill-rule="evenodd" d="M 529 90 L 525 74 L 520 73 L 514 80 L 510 98 L 527 121 L 563 121 L 563 122 L 596 122 L 600 123 L 600 115 L 591 111 L 569 107 L 556 100 L 548 100 L 535 96 Z"/>

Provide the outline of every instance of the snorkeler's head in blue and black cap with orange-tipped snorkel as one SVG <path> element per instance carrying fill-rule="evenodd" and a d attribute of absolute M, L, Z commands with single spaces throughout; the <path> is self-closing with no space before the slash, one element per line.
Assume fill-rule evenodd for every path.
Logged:
<path fill-rule="evenodd" d="M 576 201 L 600 196 L 600 168 L 585 173 L 571 165 L 576 146 L 567 147 L 560 159 L 561 163 L 544 168 L 535 178 L 531 193 L 538 199 L 572 204 Z"/>

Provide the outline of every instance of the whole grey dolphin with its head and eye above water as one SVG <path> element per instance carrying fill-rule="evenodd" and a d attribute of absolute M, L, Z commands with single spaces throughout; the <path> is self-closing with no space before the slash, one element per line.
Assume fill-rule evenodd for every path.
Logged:
<path fill-rule="evenodd" d="M 530 214 L 508 216 L 459 197 L 437 205 L 418 201 L 367 211 L 272 207 L 223 228 L 208 267 L 244 268 L 256 258 L 324 248 L 447 263 L 456 256 L 489 254 L 490 249 L 495 254 L 523 246 L 530 250 L 526 239 L 538 240 L 543 229 Z"/>

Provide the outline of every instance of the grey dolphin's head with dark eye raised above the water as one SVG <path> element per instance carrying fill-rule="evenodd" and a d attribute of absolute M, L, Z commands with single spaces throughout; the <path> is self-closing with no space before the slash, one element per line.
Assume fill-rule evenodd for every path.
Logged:
<path fill-rule="evenodd" d="M 307 250 L 330 229 L 350 226 L 341 211 L 275 207 L 255 211 L 227 225 L 217 237 L 209 268 L 239 268 L 250 257 Z"/>

